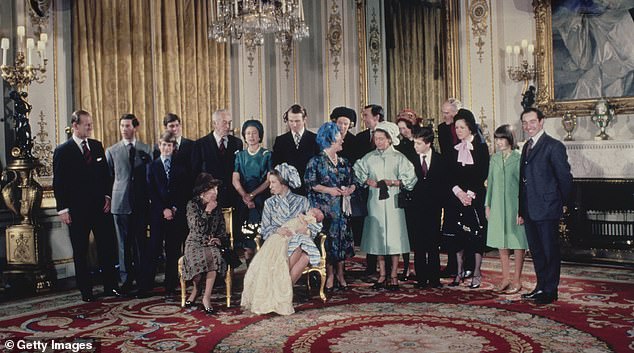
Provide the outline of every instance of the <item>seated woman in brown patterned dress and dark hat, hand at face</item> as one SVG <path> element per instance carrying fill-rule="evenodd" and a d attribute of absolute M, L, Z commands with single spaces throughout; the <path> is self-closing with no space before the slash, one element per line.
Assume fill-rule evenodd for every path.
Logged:
<path fill-rule="evenodd" d="M 194 197 L 187 204 L 187 224 L 189 235 L 185 241 L 183 258 L 183 279 L 192 280 L 194 288 L 185 302 L 191 306 L 198 296 L 198 283 L 201 276 L 205 276 L 205 292 L 203 306 L 208 314 L 213 314 L 211 306 L 211 290 L 216 275 L 221 276 L 227 270 L 220 245 L 226 240 L 227 233 L 222 210 L 218 207 L 216 198 L 220 180 L 211 174 L 201 173 L 194 185 Z"/>

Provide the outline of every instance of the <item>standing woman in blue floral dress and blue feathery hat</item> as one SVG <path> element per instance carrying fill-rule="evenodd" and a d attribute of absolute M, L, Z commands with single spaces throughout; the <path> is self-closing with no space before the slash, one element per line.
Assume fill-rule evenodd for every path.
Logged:
<path fill-rule="evenodd" d="M 348 160 L 337 155 L 343 144 L 337 124 L 323 124 L 317 132 L 317 143 L 322 152 L 308 162 L 304 182 L 308 187 L 310 204 L 325 215 L 324 228 L 328 235 L 326 290 L 333 289 L 335 273 L 339 287 L 346 289 L 344 260 L 354 256 L 354 239 L 348 227 L 351 209 L 344 209 L 342 205 L 346 198 L 347 204 L 350 204 L 350 195 L 356 186 Z"/>

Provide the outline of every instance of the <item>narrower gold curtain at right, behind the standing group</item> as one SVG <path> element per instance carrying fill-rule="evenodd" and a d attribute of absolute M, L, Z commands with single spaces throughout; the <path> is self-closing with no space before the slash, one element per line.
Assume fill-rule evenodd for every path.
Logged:
<path fill-rule="evenodd" d="M 444 1 L 385 1 L 388 76 L 387 116 L 404 108 L 436 125 L 448 98 Z"/>

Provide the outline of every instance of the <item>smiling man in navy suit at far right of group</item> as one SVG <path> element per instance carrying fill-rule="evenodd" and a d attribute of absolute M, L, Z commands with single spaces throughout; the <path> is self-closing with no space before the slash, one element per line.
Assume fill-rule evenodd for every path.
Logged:
<path fill-rule="evenodd" d="M 549 304 L 557 300 L 561 269 L 558 226 L 572 190 L 572 174 L 566 147 L 544 132 L 544 114 L 528 108 L 521 120 L 529 139 L 522 149 L 519 212 L 537 277 L 535 289 L 522 297 Z"/>

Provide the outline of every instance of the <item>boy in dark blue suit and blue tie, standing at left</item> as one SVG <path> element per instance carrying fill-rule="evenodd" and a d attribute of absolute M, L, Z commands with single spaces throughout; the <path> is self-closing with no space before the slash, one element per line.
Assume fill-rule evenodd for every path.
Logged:
<path fill-rule="evenodd" d="M 154 287 L 154 277 L 158 258 L 165 249 L 165 296 L 170 297 L 178 282 L 178 258 L 182 255 L 181 246 L 187 234 L 176 223 L 177 214 L 187 212 L 185 179 L 187 171 L 182 165 L 172 161 L 176 138 L 170 132 L 164 132 L 159 141 L 161 155 L 147 168 L 148 194 L 150 195 L 150 239 L 147 256 L 143 260 L 143 276 L 139 283 L 137 296 L 149 296 Z M 165 248 L 163 248 L 165 242 Z"/>

